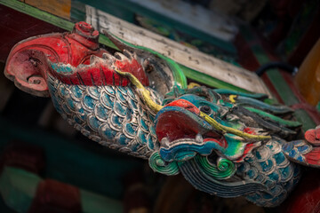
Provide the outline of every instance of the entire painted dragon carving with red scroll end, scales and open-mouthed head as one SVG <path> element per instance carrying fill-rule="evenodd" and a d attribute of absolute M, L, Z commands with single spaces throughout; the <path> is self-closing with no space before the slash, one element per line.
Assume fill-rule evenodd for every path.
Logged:
<path fill-rule="evenodd" d="M 98 36 L 80 22 L 72 33 L 29 38 L 12 49 L 4 74 L 50 96 L 84 136 L 147 159 L 156 172 L 182 173 L 206 193 L 272 207 L 299 181 L 299 164 L 319 165 L 319 130 L 292 141 L 300 123 L 284 120 L 289 107 L 261 94 L 187 88 L 172 60 L 107 34 L 123 51 L 111 54 Z"/>

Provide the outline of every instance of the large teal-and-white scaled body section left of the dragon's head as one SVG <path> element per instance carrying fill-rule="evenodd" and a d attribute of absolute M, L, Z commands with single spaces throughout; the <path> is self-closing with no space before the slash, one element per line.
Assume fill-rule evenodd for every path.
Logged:
<path fill-rule="evenodd" d="M 84 136 L 143 159 L 158 148 L 154 117 L 131 87 L 69 85 L 48 76 L 56 110 Z M 148 89 L 157 104 L 162 99 Z"/>

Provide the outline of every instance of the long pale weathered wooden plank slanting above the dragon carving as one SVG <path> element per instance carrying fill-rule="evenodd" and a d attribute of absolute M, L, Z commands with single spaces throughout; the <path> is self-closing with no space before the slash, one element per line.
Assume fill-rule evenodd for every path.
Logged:
<path fill-rule="evenodd" d="M 211 75 L 223 82 L 247 91 L 270 94 L 266 85 L 252 72 L 176 43 L 164 36 L 156 35 L 88 5 L 86 5 L 86 22 L 100 32 L 108 30 L 127 42 L 158 51 L 181 65 Z"/>

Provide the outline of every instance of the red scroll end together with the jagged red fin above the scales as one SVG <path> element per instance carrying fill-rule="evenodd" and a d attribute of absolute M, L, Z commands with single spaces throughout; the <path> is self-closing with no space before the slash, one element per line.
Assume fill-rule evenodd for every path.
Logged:
<path fill-rule="evenodd" d="M 99 48 L 98 39 L 99 32 L 85 22 L 76 23 L 71 33 L 30 37 L 12 48 L 4 75 L 20 90 L 44 97 L 49 96 L 48 73 L 68 84 L 126 86 L 129 81 L 115 72 L 119 69 L 148 86 L 148 76 L 135 54 L 124 51 L 126 56 L 112 56 Z M 53 70 L 52 64 L 68 72 Z"/>

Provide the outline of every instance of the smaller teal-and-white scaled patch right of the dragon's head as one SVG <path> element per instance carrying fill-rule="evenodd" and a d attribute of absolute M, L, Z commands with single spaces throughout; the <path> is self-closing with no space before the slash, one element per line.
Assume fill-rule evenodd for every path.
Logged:
<path fill-rule="evenodd" d="M 282 152 L 283 141 L 273 138 L 265 146 L 238 165 L 236 174 L 244 179 L 260 182 L 268 191 L 246 195 L 248 201 L 259 206 L 274 207 L 282 203 L 300 179 L 300 166 L 290 162 Z"/>

